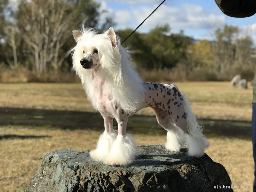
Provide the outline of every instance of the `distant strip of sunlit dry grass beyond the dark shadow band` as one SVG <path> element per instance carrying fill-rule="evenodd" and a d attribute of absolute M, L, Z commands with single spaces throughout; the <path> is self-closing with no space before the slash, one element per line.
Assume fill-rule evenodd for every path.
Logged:
<path fill-rule="evenodd" d="M 251 85 L 241 90 L 229 82 L 175 84 L 192 103 L 198 119 L 251 120 Z M 0 107 L 95 111 L 81 83 L 0 83 Z M 139 114 L 155 115 L 148 108 Z"/>

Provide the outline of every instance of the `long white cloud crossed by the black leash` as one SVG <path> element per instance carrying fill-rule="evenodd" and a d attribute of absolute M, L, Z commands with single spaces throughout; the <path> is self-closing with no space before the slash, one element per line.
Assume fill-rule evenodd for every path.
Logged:
<path fill-rule="evenodd" d="M 111 14 L 117 24 L 116 29 L 136 28 L 158 6 L 158 4 L 140 5 L 140 0 L 129 0 L 129 2 L 137 2 L 137 4 L 129 5 L 126 10 L 111 10 Z M 156 1 L 151 0 L 151 2 Z M 102 4 L 107 8 L 107 4 L 104 1 Z M 200 5 L 183 4 L 180 7 L 173 7 L 163 4 L 145 21 L 139 31 L 149 31 L 157 25 L 165 24 L 169 24 L 176 31 L 180 29 L 186 30 L 187 28 L 210 30 L 213 27 L 216 28 L 216 26 L 223 26 L 225 17 L 223 14 L 216 15 L 206 11 Z"/>

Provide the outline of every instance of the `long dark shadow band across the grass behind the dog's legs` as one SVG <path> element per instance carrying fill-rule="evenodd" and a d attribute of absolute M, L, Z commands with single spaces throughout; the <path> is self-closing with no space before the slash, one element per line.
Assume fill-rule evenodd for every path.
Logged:
<path fill-rule="evenodd" d="M 206 137 L 251 139 L 251 122 L 223 120 L 198 120 L 198 122 L 203 125 Z M 104 130 L 103 118 L 99 113 L 45 109 L 0 108 L 0 125 L 44 129 Z M 114 126 L 117 127 L 116 122 Z M 146 135 L 166 134 L 155 117 L 140 115 L 129 117 L 127 132 Z"/>

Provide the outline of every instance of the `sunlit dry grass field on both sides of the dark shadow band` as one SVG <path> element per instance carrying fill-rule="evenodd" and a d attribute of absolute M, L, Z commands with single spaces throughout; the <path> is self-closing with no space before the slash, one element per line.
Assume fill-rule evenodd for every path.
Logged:
<path fill-rule="evenodd" d="M 248 90 L 234 89 L 229 82 L 176 84 L 191 101 L 192 109 L 198 118 L 251 120 L 251 87 Z M 81 84 L 77 83 L 0 84 L 0 107 L 94 110 L 86 99 Z M 140 114 L 153 115 L 152 112 L 146 109 Z M 0 191 L 24 191 L 45 153 L 62 148 L 78 151 L 94 149 L 100 134 L 101 131 L 95 130 L 0 125 Z M 137 145 L 166 142 L 163 135 L 133 136 Z M 242 191 L 252 191 L 254 161 L 251 141 L 216 136 L 209 136 L 208 139 L 211 146 L 206 153 L 213 161 L 226 168 L 232 185 L 250 186 L 250 189 Z"/>

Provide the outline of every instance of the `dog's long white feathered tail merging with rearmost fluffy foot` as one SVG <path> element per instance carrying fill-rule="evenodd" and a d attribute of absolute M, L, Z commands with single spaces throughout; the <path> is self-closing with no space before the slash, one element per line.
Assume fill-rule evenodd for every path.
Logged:
<path fill-rule="evenodd" d="M 187 121 L 187 143 L 188 155 L 202 156 L 204 148 L 209 147 L 209 142 L 205 139 L 202 126 L 197 122 L 196 116 L 192 113 L 191 105 L 183 95 L 184 110 Z"/>

